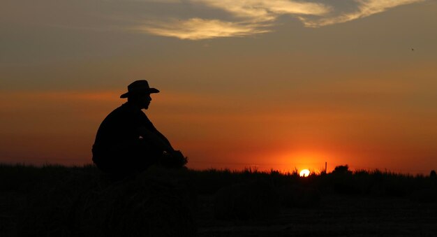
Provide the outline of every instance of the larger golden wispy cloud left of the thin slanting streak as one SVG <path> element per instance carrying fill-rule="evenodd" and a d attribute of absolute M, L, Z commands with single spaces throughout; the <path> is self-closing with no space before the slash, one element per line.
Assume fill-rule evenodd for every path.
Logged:
<path fill-rule="evenodd" d="M 200 40 L 218 37 L 239 37 L 271 31 L 277 17 L 291 15 L 325 15 L 329 6 L 322 3 L 297 2 L 289 0 L 188 0 L 205 8 L 220 10 L 228 14 L 230 20 L 202 19 L 149 21 L 135 30 L 158 36 Z"/>

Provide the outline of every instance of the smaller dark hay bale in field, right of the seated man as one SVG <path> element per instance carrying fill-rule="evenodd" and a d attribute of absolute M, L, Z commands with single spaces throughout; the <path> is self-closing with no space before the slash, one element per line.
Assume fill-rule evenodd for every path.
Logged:
<path fill-rule="evenodd" d="M 276 193 L 267 182 L 253 181 L 223 187 L 214 200 L 220 220 L 262 220 L 279 213 Z"/>

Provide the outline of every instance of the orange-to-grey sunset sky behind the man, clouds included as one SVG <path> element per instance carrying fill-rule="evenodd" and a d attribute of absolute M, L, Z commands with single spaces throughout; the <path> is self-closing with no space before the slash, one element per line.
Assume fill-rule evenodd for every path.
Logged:
<path fill-rule="evenodd" d="M 6 0 L 0 162 L 89 164 L 133 80 L 191 168 L 437 169 L 437 1 Z"/>

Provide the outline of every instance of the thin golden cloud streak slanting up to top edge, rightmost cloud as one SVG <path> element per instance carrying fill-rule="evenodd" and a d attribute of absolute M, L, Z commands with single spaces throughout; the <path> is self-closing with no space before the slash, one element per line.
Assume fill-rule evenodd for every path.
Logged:
<path fill-rule="evenodd" d="M 338 24 L 382 13 L 390 8 L 416 3 L 425 0 L 355 0 L 358 10 L 352 13 L 343 13 L 334 17 L 322 17 L 319 20 L 309 20 L 307 17 L 298 17 L 306 27 L 323 27 L 329 24 Z"/>

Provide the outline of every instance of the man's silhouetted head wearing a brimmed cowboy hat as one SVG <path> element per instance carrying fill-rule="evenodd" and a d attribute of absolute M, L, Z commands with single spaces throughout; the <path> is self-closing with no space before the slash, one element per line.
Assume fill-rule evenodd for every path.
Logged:
<path fill-rule="evenodd" d="M 149 87 L 147 80 L 135 80 L 128 85 L 128 92 L 121 94 L 120 98 L 127 98 L 130 103 L 147 109 L 151 101 L 150 94 L 158 92 L 158 89 Z"/>

